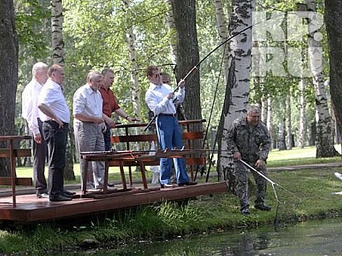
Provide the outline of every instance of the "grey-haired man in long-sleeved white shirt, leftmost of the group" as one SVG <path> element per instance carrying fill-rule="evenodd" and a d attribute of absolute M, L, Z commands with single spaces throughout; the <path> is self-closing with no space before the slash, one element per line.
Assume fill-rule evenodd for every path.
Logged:
<path fill-rule="evenodd" d="M 32 80 L 22 91 L 22 117 L 29 125 L 29 132 L 34 137 L 34 186 L 39 198 L 48 198 L 44 167 L 47 147 L 42 137 L 42 121 L 37 107 L 38 96 L 43 84 L 48 80 L 48 65 L 37 62 L 32 68 Z"/>

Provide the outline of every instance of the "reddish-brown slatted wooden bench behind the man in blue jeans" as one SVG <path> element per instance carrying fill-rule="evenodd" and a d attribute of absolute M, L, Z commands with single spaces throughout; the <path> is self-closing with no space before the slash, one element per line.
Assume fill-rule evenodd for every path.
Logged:
<path fill-rule="evenodd" d="M 185 146 L 185 149 L 187 150 L 193 150 L 194 149 L 194 140 L 203 140 L 204 138 L 204 133 L 203 131 L 192 131 L 191 126 L 193 124 L 199 124 L 201 125 L 204 123 L 206 120 L 201 119 L 201 120 L 185 120 L 185 121 L 179 121 L 180 126 L 182 126 L 183 130 L 183 145 Z M 134 149 L 134 145 L 137 143 L 145 142 L 148 144 L 148 142 L 158 142 L 157 139 L 157 134 L 156 133 L 150 133 L 150 134 L 139 134 L 135 135 L 134 132 L 138 128 L 145 128 L 147 123 L 127 123 L 127 124 L 120 124 L 115 126 L 114 133 L 122 133 L 123 130 L 123 135 L 114 135 L 111 137 L 111 143 L 115 146 L 117 144 L 123 144 L 124 148 L 123 150 L 132 150 Z M 152 126 L 154 127 L 155 124 L 153 123 Z M 148 147 L 146 147 L 149 149 Z M 158 146 L 157 146 L 158 149 Z M 197 156 L 196 156 L 197 155 Z M 152 158 L 152 157 L 151 157 Z M 190 166 L 190 179 L 193 181 L 194 180 L 194 165 L 206 165 L 206 156 L 204 154 L 201 154 L 198 156 L 197 154 L 187 154 L 185 158 L 185 164 L 187 166 Z M 129 167 L 129 184 L 132 185 L 132 176 L 131 176 L 131 167 L 136 166 L 136 163 L 127 163 Z M 159 159 L 154 158 L 154 160 L 149 160 L 148 163 L 145 165 L 159 165 Z M 112 165 L 111 165 L 112 166 Z"/>

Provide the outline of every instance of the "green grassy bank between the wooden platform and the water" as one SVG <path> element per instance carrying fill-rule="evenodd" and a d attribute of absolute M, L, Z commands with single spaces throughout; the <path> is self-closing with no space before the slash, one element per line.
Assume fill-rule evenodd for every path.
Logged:
<path fill-rule="evenodd" d="M 269 174 L 273 181 L 293 193 L 292 195 L 276 187 L 280 199 L 280 223 L 341 216 L 341 196 L 332 195 L 333 192 L 342 190 L 342 182 L 334 177 L 335 171 L 342 172 L 341 168 L 327 168 Z M 273 225 L 277 202 L 271 186 L 266 201 L 273 208 L 271 212 L 257 211 L 251 207 L 250 216 L 242 216 L 238 211 L 238 200 L 227 193 L 199 197 L 182 206 L 166 202 L 155 206 L 141 206 L 87 223 L 44 224 L 20 231 L 1 231 L 0 252 L 38 255 L 50 250 L 105 246 L 109 242 L 122 244 L 222 229 Z"/>

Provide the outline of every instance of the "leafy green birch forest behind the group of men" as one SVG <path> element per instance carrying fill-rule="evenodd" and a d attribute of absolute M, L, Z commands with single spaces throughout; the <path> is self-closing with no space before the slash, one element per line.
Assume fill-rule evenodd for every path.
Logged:
<path fill-rule="evenodd" d="M 232 68 L 231 59 L 238 59 L 234 51 L 244 52 L 239 48 L 243 38 L 250 38 L 247 54 L 243 54 L 250 59 L 241 57 L 248 70 L 247 95 L 244 93 L 247 100 L 243 101 L 243 107 L 234 110 L 237 116 L 245 113 L 247 103 L 258 104 L 262 107 L 262 120 L 270 130 L 273 149 L 290 150 L 292 146 L 302 148 L 316 144 L 318 157 L 337 154 L 334 149 L 329 150 L 341 139 L 329 96 L 325 22 L 316 26 L 317 31 L 310 31 L 308 24 L 312 20 L 299 17 L 295 33 L 301 40 L 290 40 L 288 19 L 283 19 L 289 17 L 290 12 L 299 11 L 323 17 L 323 1 L 15 0 L 13 3 L 18 43 L 14 134 L 28 134 L 27 124 L 21 117 L 21 93 L 31 80 L 31 67 L 37 61 L 64 65 L 65 96 L 70 109 L 73 93 L 85 84 L 90 70 L 113 68 L 113 91 L 120 106 L 131 116 L 148 121 L 144 96 L 149 84 L 145 68 L 152 64 L 159 66 L 162 72 L 171 75 L 175 86 L 211 50 L 233 35 L 239 38 L 235 45 L 231 43 L 234 40 L 230 40 L 213 52 L 187 80 L 185 116 L 209 122 L 208 130 L 214 132 L 208 135 L 211 142 L 208 148 L 213 148 L 216 134 L 219 149 L 222 148 L 222 135 L 236 116 L 232 112 L 238 104 L 234 103 L 233 96 L 239 81 L 231 83 L 231 74 L 238 72 L 239 66 Z M 255 22 L 253 11 L 265 13 L 265 16 Z M 266 19 L 271 20 L 273 28 Z M 242 36 L 238 35 L 241 28 L 249 25 L 250 29 L 241 33 Z M 257 40 L 257 34 L 253 33 L 251 40 L 256 27 L 283 31 L 286 40 L 276 40 L 274 33 L 269 32 L 264 40 Z M 311 53 L 308 51 L 314 33 L 321 36 L 318 41 L 322 49 L 322 66 L 318 76 L 317 70 L 310 65 Z M 288 58 L 281 60 L 283 75 L 271 69 L 260 75 L 258 65 L 255 65 L 260 63 L 258 58 L 264 58 L 264 63 L 272 63 L 273 59 L 274 63 L 279 53 L 266 51 L 262 55 L 255 49 L 272 47 L 285 52 L 286 57 L 291 47 L 299 49 L 299 54 L 296 61 L 292 59 L 291 65 L 287 63 Z M 305 75 L 307 72 L 311 75 Z M 230 117 L 227 119 L 227 116 Z M 72 130 L 69 135 L 66 178 L 74 179 L 72 163 L 77 156 Z M 330 142 L 328 146 L 327 141 Z M 19 164 L 27 163 L 22 160 Z M 8 174 L 6 168 L 1 172 Z"/>

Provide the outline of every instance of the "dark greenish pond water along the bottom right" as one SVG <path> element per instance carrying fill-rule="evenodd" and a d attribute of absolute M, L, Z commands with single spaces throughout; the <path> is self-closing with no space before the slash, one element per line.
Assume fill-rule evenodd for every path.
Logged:
<path fill-rule="evenodd" d="M 342 221 L 322 220 L 292 227 L 243 230 L 234 233 L 202 234 L 155 243 L 141 242 L 112 250 L 88 250 L 60 255 L 176 256 L 176 255 L 342 255 Z"/>

